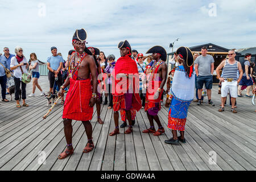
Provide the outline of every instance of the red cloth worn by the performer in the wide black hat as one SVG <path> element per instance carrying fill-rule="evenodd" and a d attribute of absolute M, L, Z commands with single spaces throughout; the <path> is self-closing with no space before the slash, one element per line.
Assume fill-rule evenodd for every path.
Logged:
<path fill-rule="evenodd" d="M 161 64 L 160 64 L 161 65 Z M 150 76 L 150 80 L 148 80 L 148 89 L 152 89 L 152 90 L 155 90 L 155 92 L 158 92 L 158 88 L 159 86 L 161 85 L 162 83 L 162 80 L 158 81 L 156 80 L 155 81 L 155 76 L 156 74 L 158 73 L 158 68 L 160 67 L 160 65 L 158 65 L 158 67 L 155 69 L 154 71 L 154 75 Z M 160 79 L 160 77 L 159 77 Z M 159 93 L 159 96 L 157 99 L 154 100 L 154 94 L 155 92 L 152 92 L 152 93 L 149 93 L 148 90 L 147 90 L 147 93 L 146 93 L 146 100 L 149 101 L 149 102 L 154 102 L 154 103 L 158 103 L 161 101 L 161 97 L 162 97 L 162 94 L 163 94 L 163 89 L 162 91 Z"/>

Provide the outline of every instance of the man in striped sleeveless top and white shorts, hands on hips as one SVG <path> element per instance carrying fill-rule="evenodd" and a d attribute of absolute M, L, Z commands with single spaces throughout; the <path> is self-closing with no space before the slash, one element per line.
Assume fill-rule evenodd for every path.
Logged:
<path fill-rule="evenodd" d="M 224 111 L 224 104 L 226 102 L 226 96 L 228 96 L 228 92 L 230 92 L 231 96 L 231 103 L 233 113 L 237 113 L 236 109 L 234 108 L 237 98 L 237 85 L 239 84 L 240 80 L 243 76 L 242 66 L 241 63 L 235 60 L 236 52 L 234 49 L 230 50 L 228 53 L 229 59 L 224 60 L 218 65 L 216 69 L 217 77 L 222 82 L 221 84 L 221 107 L 218 111 Z M 220 70 L 222 70 L 222 77 L 220 76 Z M 239 71 L 239 78 L 237 78 L 237 72 Z"/>

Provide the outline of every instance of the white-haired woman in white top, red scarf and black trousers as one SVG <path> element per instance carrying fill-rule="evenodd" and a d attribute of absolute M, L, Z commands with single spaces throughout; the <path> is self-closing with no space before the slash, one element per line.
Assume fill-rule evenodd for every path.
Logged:
<path fill-rule="evenodd" d="M 15 47 L 16 56 L 11 58 L 10 68 L 14 71 L 14 82 L 15 82 L 15 100 L 16 100 L 16 107 L 21 107 L 19 104 L 19 89 L 21 84 L 22 90 L 22 106 L 27 107 L 26 104 L 26 86 L 24 82 L 21 81 L 22 72 L 27 73 L 28 63 L 26 57 L 23 55 L 23 49 L 19 46 Z"/>

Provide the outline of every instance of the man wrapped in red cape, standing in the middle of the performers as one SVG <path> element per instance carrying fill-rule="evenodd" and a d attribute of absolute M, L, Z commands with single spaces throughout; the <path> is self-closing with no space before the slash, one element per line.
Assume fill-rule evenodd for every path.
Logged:
<path fill-rule="evenodd" d="M 118 44 L 121 57 L 115 63 L 112 72 L 113 82 L 113 110 L 115 130 L 110 136 L 119 134 L 118 111 L 124 110 L 126 119 L 129 121 L 129 127 L 125 134 L 133 131 L 131 121 L 131 110 L 139 111 L 141 109 L 141 98 L 139 97 L 139 74 L 136 62 L 131 59 L 131 46 L 127 40 Z M 120 85 L 123 83 L 122 85 Z"/>

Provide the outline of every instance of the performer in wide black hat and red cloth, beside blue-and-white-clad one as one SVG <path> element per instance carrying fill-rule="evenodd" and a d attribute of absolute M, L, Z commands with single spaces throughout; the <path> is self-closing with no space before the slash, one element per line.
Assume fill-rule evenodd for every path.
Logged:
<path fill-rule="evenodd" d="M 161 46 L 154 46 L 146 53 L 152 53 L 154 63 L 150 68 L 151 76 L 148 79 L 146 93 L 145 111 L 147 112 L 150 128 L 143 130 L 143 133 L 154 133 L 159 136 L 164 133 L 164 128 L 160 123 L 158 111 L 161 109 L 160 101 L 163 94 L 163 87 L 167 80 L 166 50 Z M 155 130 L 154 120 L 158 124 L 158 131 Z"/>

